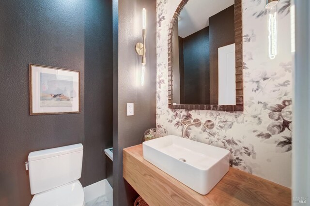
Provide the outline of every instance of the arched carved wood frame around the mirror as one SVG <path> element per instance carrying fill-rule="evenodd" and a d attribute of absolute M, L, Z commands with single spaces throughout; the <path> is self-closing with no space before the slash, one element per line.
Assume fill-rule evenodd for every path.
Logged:
<path fill-rule="evenodd" d="M 236 61 L 236 104 L 172 104 L 172 32 L 175 21 L 188 0 L 182 0 L 172 17 L 168 32 L 168 107 L 171 109 L 200 109 L 243 111 L 243 49 L 242 49 L 242 0 L 234 0 L 234 42 Z"/>

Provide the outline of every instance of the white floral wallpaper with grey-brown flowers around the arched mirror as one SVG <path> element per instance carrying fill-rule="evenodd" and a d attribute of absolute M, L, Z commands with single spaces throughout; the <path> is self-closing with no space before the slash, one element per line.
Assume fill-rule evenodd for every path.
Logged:
<path fill-rule="evenodd" d="M 157 0 L 157 128 L 181 135 L 185 117 L 212 120 L 186 138 L 231 151 L 234 168 L 291 187 L 292 55 L 290 0 L 278 3 L 278 56 L 268 58 L 264 0 L 243 0 L 244 112 L 168 108 L 168 28 L 181 0 Z"/>

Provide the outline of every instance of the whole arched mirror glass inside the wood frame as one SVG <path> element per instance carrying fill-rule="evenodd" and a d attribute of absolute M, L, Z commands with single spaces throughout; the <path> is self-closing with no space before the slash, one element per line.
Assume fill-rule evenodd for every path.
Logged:
<path fill-rule="evenodd" d="M 235 104 L 234 0 L 189 0 L 172 34 L 172 103 Z"/>

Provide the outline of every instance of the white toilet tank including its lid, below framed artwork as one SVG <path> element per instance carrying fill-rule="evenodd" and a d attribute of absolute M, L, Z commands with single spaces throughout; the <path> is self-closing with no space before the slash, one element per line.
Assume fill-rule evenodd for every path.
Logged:
<path fill-rule="evenodd" d="M 31 152 L 28 168 L 31 194 L 47 191 L 81 177 L 83 145 Z"/>

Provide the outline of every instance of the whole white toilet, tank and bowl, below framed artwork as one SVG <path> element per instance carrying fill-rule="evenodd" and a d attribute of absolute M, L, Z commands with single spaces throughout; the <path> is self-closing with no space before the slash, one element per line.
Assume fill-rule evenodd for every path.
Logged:
<path fill-rule="evenodd" d="M 82 159 L 82 144 L 31 152 L 26 162 L 34 194 L 30 206 L 85 206 L 78 181 Z"/>

